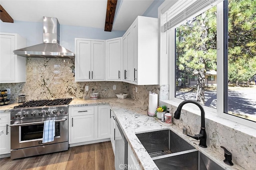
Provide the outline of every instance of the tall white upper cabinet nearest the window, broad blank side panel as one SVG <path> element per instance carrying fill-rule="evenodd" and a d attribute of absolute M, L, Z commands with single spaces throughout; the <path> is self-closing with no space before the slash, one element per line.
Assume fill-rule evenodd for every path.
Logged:
<path fill-rule="evenodd" d="M 158 18 L 138 16 L 123 36 L 124 82 L 159 84 Z"/>

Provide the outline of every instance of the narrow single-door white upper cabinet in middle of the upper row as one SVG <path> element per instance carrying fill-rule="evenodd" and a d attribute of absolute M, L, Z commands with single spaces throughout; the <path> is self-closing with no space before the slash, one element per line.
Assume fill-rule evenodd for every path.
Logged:
<path fill-rule="evenodd" d="M 106 80 L 120 81 L 122 76 L 122 44 L 120 38 L 108 39 L 107 44 L 107 76 Z"/>

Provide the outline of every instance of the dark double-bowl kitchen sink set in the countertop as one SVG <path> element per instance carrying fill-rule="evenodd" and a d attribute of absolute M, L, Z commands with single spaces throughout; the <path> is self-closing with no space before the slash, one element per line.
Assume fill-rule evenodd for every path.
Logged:
<path fill-rule="evenodd" d="M 136 136 L 160 170 L 225 170 L 170 129 Z"/>

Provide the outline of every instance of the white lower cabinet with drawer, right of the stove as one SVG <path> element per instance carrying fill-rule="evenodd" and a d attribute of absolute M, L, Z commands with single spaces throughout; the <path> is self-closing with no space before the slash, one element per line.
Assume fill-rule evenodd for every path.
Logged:
<path fill-rule="evenodd" d="M 69 108 L 69 144 L 78 146 L 109 139 L 109 105 Z"/>

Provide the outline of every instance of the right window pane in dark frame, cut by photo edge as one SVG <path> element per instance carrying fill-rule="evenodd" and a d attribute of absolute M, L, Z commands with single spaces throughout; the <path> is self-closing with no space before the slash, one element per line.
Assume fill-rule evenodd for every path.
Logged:
<path fill-rule="evenodd" d="M 228 0 L 225 112 L 256 122 L 256 1 Z"/>

